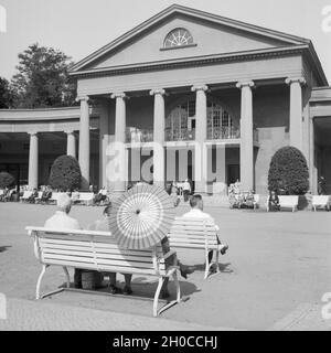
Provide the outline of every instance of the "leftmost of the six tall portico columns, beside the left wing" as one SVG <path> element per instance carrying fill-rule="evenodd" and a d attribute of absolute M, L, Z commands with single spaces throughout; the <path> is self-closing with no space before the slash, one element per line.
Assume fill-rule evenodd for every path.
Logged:
<path fill-rule="evenodd" d="M 79 120 L 79 156 L 78 161 L 82 171 L 83 190 L 89 185 L 89 107 L 88 97 L 78 98 L 81 100 L 81 120 Z"/>

